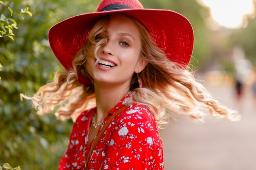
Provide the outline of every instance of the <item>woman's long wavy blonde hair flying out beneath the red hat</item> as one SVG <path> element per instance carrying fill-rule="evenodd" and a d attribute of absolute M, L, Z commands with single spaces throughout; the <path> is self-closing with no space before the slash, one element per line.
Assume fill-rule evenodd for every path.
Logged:
<path fill-rule="evenodd" d="M 208 110 L 213 117 L 227 117 L 239 120 L 240 115 L 213 99 L 209 92 L 195 80 L 193 71 L 182 64 L 168 60 L 164 51 L 157 47 L 150 33 L 136 19 L 126 15 L 137 25 L 141 35 L 141 56 L 148 62 L 139 76 L 143 88 L 137 84 L 137 74 L 130 84 L 130 96 L 134 103 L 143 104 L 156 117 L 158 125 L 167 124 L 167 113 L 186 115 L 199 119 Z M 110 15 L 106 15 L 94 24 L 88 41 L 76 54 L 70 71 L 56 72 L 54 81 L 42 86 L 31 99 L 38 114 L 52 112 L 56 106 L 56 116 L 61 119 L 76 117 L 83 110 L 94 106 L 94 84 L 82 85 L 78 82 L 77 72 L 84 68 L 88 57 L 96 57 L 97 51 L 107 42 L 106 38 L 97 39 L 107 30 Z"/>

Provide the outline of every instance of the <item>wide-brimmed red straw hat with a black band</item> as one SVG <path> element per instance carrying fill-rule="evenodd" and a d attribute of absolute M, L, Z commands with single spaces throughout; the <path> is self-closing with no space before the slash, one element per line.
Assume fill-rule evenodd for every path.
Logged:
<path fill-rule="evenodd" d="M 68 18 L 49 30 L 52 51 L 66 70 L 72 68 L 72 61 L 87 41 L 94 23 L 110 13 L 126 14 L 137 19 L 169 60 L 189 64 L 194 35 L 190 22 L 183 15 L 170 10 L 144 9 L 138 0 L 102 0 L 96 12 Z"/>

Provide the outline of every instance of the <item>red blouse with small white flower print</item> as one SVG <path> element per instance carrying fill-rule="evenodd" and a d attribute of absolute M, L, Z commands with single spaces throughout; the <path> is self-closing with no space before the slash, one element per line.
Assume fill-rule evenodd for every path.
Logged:
<path fill-rule="evenodd" d="M 127 102 L 130 102 L 128 96 L 109 111 L 101 127 Z M 85 160 L 91 147 L 88 146 L 88 131 L 95 111 L 96 108 L 87 110 L 76 119 L 70 134 L 70 144 L 61 159 L 59 170 L 85 170 Z M 88 162 L 88 170 L 100 169 L 164 169 L 162 141 L 155 117 L 148 108 L 132 104 L 112 120 Z"/>

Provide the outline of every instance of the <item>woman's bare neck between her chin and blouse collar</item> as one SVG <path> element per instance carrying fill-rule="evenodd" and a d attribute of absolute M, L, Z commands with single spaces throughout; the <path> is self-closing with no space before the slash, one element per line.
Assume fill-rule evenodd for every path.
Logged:
<path fill-rule="evenodd" d="M 95 97 L 97 105 L 97 122 L 104 119 L 108 112 L 128 93 L 129 86 L 99 86 L 95 85 Z"/>

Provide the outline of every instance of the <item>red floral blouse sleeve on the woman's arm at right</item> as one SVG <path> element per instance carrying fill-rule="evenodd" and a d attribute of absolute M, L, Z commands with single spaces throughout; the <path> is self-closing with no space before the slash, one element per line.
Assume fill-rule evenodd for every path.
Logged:
<path fill-rule="evenodd" d="M 122 114 L 108 141 L 104 170 L 162 170 L 162 141 L 155 118 L 135 107 Z"/>

